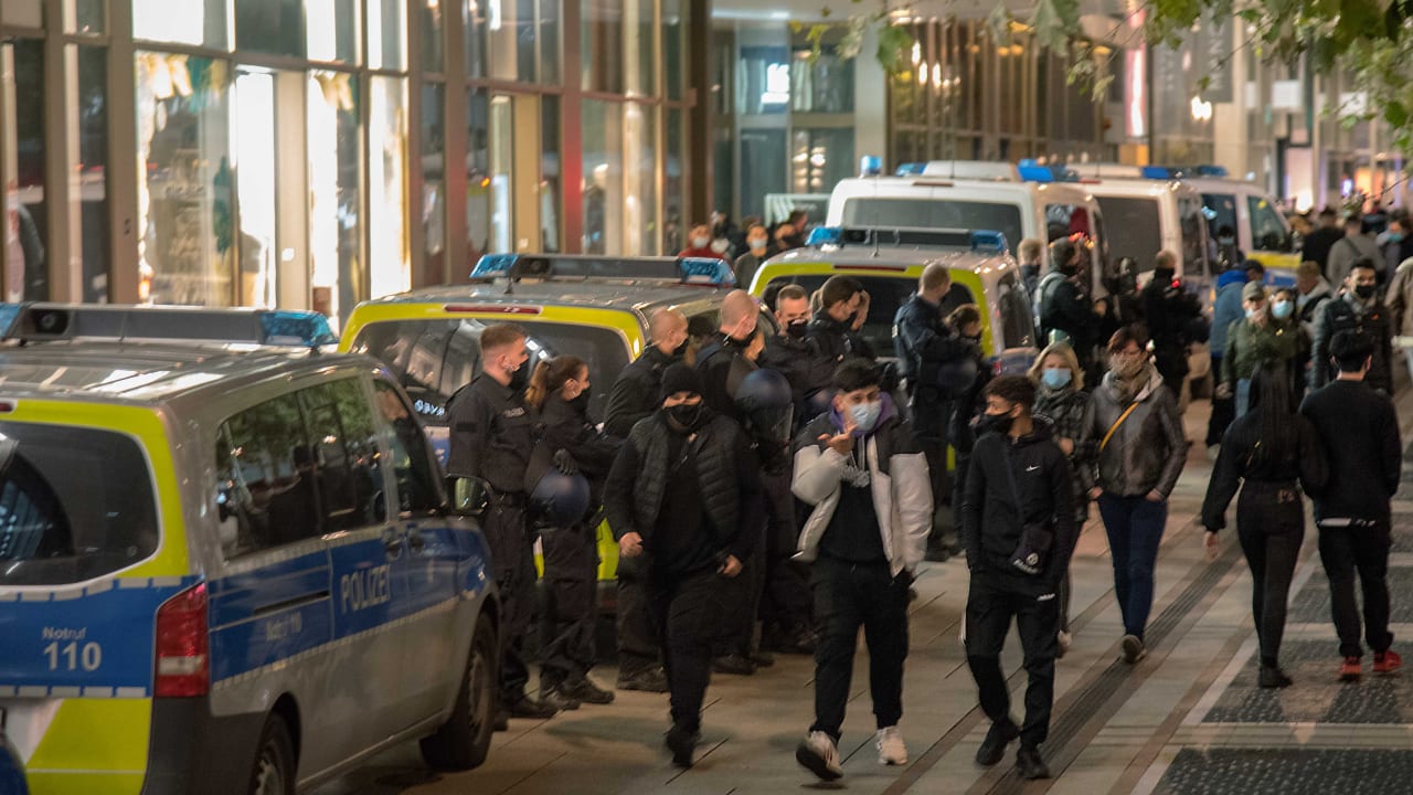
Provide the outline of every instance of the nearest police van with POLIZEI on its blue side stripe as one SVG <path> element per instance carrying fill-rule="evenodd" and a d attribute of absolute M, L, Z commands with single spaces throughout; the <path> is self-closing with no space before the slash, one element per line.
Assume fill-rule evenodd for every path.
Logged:
<path fill-rule="evenodd" d="M 376 361 L 312 313 L 0 330 L 0 713 L 32 792 L 294 792 L 414 738 L 485 760 L 483 489 L 448 501 Z"/>

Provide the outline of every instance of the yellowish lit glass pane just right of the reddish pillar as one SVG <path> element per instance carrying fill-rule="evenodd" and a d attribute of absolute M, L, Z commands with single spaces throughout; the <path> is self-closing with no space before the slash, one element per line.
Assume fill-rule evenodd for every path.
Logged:
<path fill-rule="evenodd" d="M 623 250 L 623 110 L 584 100 L 584 250 Z"/>

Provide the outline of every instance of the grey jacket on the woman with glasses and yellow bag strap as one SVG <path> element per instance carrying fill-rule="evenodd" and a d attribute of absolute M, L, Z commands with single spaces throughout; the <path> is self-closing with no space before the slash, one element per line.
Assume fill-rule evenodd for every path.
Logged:
<path fill-rule="evenodd" d="M 1091 464 L 1094 482 L 1116 497 L 1142 497 L 1157 491 L 1167 499 L 1177 485 L 1187 463 L 1187 439 L 1183 417 L 1171 389 L 1163 389 L 1163 376 L 1147 365 L 1147 383 L 1133 398 L 1133 412 L 1123 420 L 1099 450 L 1105 434 L 1113 427 L 1129 403 L 1121 403 L 1113 386 L 1113 373 L 1104 375 L 1104 383 L 1094 390 L 1085 410 L 1084 439 L 1092 444 Z"/>

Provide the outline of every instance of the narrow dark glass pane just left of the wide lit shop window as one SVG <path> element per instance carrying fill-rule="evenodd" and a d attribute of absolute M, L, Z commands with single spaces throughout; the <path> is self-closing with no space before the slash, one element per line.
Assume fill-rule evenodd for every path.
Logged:
<path fill-rule="evenodd" d="M 107 48 L 69 45 L 78 65 L 78 102 L 68 108 L 69 130 L 78 130 L 78 149 L 69 150 L 69 173 L 78 190 L 69 194 L 69 218 L 79 219 L 83 260 L 83 300 L 107 298 Z M 75 119 L 76 117 L 76 119 Z M 75 158 L 76 156 L 76 158 Z M 42 266 L 38 269 L 42 272 Z M 44 290 L 31 290 L 42 296 Z"/>

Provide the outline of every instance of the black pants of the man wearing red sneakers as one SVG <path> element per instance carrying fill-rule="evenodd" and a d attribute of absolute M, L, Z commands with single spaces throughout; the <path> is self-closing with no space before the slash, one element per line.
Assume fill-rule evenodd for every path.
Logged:
<path fill-rule="evenodd" d="M 1330 577 L 1334 628 L 1340 634 L 1340 656 L 1364 656 L 1359 645 L 1359 603 L 1354 576 L 1364 591 L 1364 637 L 1375 652 L 1393 645 L 1389 632 L 1389 521 L 1351 528 L 1320 528 L 1320 560 Z"/>

